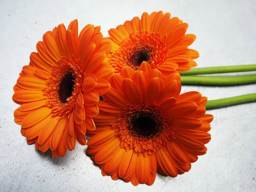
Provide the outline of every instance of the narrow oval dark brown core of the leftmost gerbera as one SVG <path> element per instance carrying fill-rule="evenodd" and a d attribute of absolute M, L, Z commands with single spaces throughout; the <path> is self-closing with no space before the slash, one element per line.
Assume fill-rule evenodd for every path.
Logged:
<path fill-rule="evenodd" d="M 67 72 L 61 79 L 59 84 L 58 96 L 62 103 L 67 102 L 67 98 L 72 96 L 74 85 L 75 85 L 75 77 L 71 71 Z"/>

